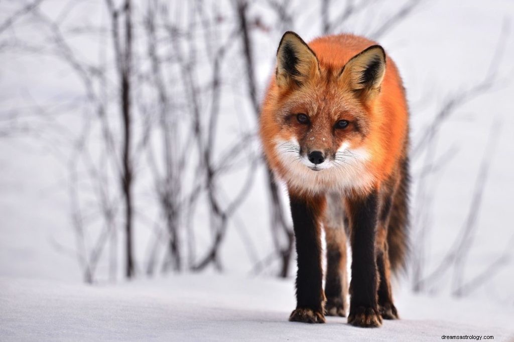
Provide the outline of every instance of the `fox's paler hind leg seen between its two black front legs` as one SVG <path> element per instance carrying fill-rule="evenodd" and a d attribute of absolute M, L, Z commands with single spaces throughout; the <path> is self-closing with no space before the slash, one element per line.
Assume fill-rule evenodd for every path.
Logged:
<path fill-rule="evenodd" d="M 326 239 L 325 314 L 346 316 L 348 275 L 346 273 L 346 234 L 344 210 L 339 194 L 327 195 L 323 218 Z"/>

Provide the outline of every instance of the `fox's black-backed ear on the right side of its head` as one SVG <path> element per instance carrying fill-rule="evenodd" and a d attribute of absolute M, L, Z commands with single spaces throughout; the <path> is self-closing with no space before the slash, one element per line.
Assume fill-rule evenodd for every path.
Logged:
<path fill-rule="evenodd" d="M 341 70 L 341 79 L 360 94 L 368 97 L 380 92 L 386 74 L 386 52 L 373 45 L 352 57 Z"/>

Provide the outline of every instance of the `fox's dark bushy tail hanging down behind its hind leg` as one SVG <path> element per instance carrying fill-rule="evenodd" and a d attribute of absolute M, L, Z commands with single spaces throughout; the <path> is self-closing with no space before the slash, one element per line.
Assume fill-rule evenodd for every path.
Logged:
<path fill-rule="evenodd" d="M 394 195 L 387 235 L 389 261 L 395 273 L 406 269 L 409 253 L 409 184 L 409 159 L 406 158 L 401 165 L 401 179 Z"/>

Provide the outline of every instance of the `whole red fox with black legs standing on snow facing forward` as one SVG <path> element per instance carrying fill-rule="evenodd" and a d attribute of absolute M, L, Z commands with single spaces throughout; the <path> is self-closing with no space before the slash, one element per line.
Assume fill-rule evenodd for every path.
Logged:
<path fill-rule="evenodd" d="M 260 134 L 267 163 L 289 193 L 298 255 L 290 321 L 345 316 L 346 234 L 348 323 L 378 327 L 398 318 L 390 277 L 407 253 L 408 120 L 401 78 L 381 46 L 351 34 L 308 45 L 294 32 L 284 34 Z"/>

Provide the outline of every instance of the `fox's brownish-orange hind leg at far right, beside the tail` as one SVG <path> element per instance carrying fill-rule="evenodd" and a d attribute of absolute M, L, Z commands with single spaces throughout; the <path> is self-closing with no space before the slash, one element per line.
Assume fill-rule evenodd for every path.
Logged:
<path fill-rule="evenodd" d="M 389 262 L 389 246 L 387 243 L 387 233 L 389 217 L 393 205 L 393 195 L 386 192 L 381 201 L 380 215 L 378 219 L 377 236 L 375 250 L 377 256 L 377 268 L 379 273 L 378 283 L 378 309 L 384 319 L 398 319 L 398 311 L 393 304 L 393 294 L 391 289 L 391 264 Z"/>

